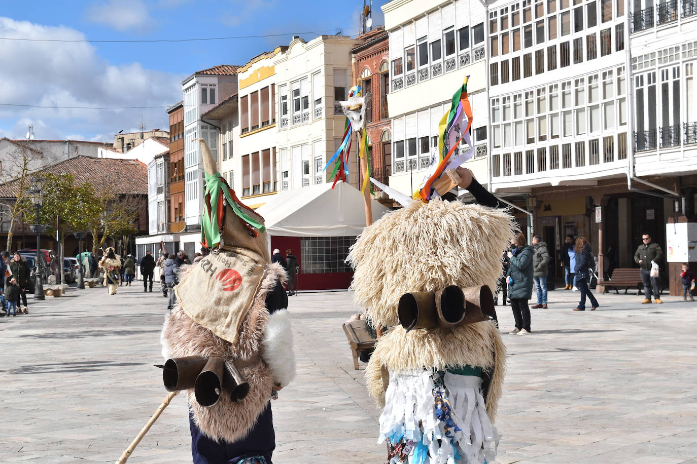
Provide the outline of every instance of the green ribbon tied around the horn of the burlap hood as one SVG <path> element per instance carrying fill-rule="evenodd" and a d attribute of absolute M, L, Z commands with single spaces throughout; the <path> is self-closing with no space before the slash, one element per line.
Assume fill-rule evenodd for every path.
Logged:
<path fill-rule="evenodd" d="M 232 208 L 238 218 L 259 230 L 259 232 L 266 231 L 266 227 L 264 227 L 263 223 L 260 223 L 255 218 L 245 213 L 237 202 L 233 201 L 232 195 L 230 194 L 230 187 L 224 182 L 220 173 L 215 173 L 213 175 L 208 175 L 208 173 L 206 173 L 205 194 L 210 195 L 210 208 L 207 206 L 204 207 L 204 211 L 201 214 L 201 239 L 209 247 L 213 248 L 220 243 L 222 224 L 220 223 L 220 218 L 217 217 L 217 204 L 218 201 L 220 201 L 221 193 L 227 205 Z M 206 211 L 206 209 L 208 209 L 208 211 Z"/>

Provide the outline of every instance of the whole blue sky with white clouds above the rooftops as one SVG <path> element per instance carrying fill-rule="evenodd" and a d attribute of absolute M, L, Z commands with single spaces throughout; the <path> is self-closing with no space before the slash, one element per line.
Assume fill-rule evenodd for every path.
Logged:
<path fill-rule="evenodd" d="M 383 24 L 374 0 L 374 24 Z M 0 138 L 113 141 L 120 130 L 168 129 L 164 107 L 181 100 L 181 80 L 219 64 L 241 65 L 287 45 L 291 35 L 355 35 L 362 0 L 1 1 Z M 264 38 L 176 40 L 238 35 Z M 12 40 L 8 40 L 12 39 Z M 23 39 L 23 40 L 17 40 Z M 26 106 L 149 109 L 42 109 Z"/>

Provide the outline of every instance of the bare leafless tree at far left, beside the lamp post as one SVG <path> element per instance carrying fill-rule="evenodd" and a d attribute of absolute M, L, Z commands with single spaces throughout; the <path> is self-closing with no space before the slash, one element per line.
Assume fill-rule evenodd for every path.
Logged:
<path fill-rule="evenodd" d="M 41 152 L 34 150 L 24 143 L 17 142 L 17 148 L 4 161 L 3 172 L 0 173 L 0 183 L 4 184 L 6 193 L 0 200 L 2 222 L 9 223 L 6 250 L 12 247 L 15 227 L 20 218 L 31 208 L 31 177 L 40 166 Z M 29 209 L 31 211 L 31 209 Z"/>

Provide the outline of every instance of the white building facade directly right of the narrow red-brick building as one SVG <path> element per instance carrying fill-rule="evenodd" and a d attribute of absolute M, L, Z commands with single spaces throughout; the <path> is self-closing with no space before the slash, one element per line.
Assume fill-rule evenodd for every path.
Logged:
<path fill-rule="evenodd" d="M 473 159 L 466 167 L 487 183 L 486 9 L 479 1 L 402 1 L 383 6 L 390 37 L 392 175 L 390 186 L 411 195 L 437 150 L 438 123 L 470 76 Z M 460 150 L 466 149 L 463 142 Z"/>

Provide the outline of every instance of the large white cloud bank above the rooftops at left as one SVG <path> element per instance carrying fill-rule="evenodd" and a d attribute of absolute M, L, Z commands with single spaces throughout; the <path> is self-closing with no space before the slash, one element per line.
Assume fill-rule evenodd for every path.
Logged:
<path fill-rule="evenodd" d="M 0 37 L 80 40 L 66 27 L 42 26 L 0 17 Z M 0 103 L 38 106 L 163 106 L 156 109 L 84 110 L 0 106 L 0 136 L 36 138 L 84 134 L 113 140 L 114 132 L 138 127 L 167 129 L 164 107 L 181 99 L 184 76 L 145 69 L 140 63 L 112 65 L 85 42 L 3 40 L 0 47 Z M 101 135 L 104 134 L 104 135 Z"/>

